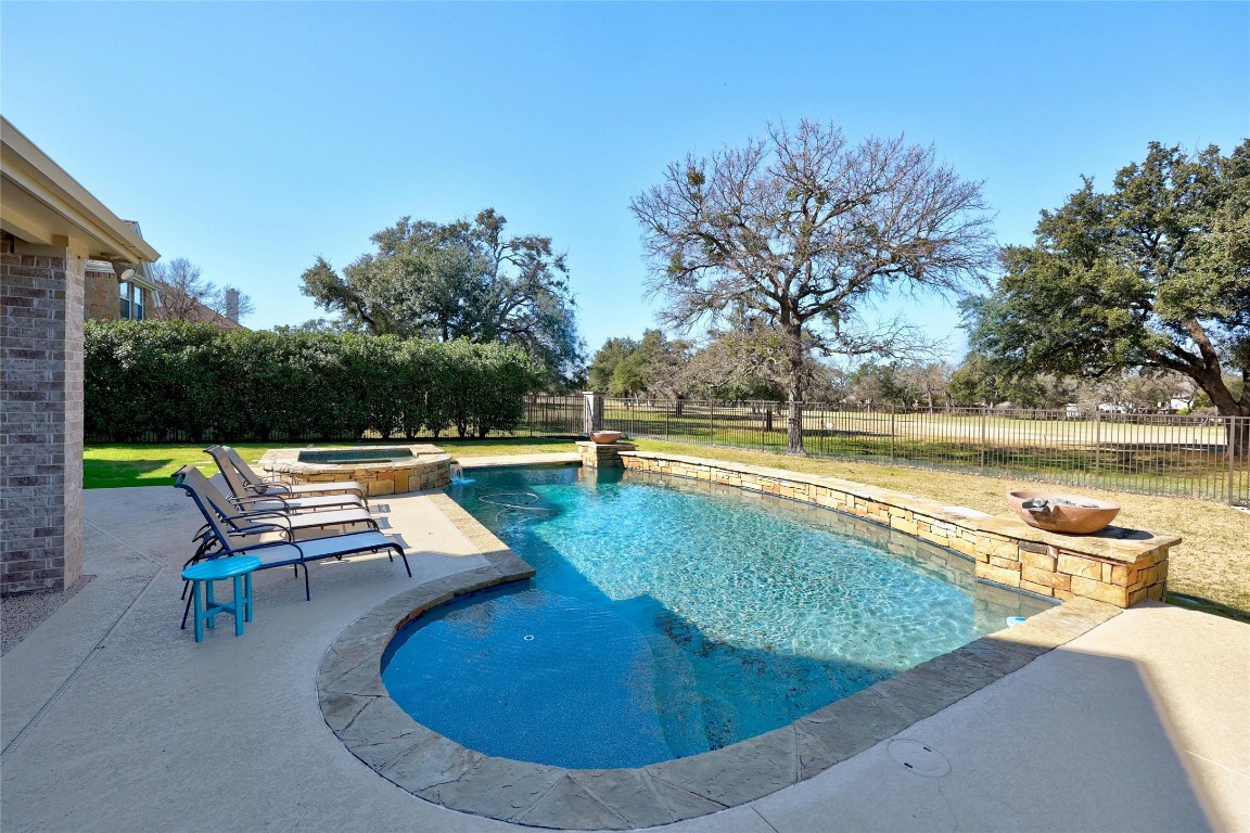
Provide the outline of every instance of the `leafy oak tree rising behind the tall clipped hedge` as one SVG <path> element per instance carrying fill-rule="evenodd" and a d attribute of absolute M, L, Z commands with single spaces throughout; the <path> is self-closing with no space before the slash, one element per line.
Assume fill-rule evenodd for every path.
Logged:
<path fill-rule="evenodd" d="M 375 234 L 376 251 L 336 272 L 318 257 L 302 292 L 348 330 L 374 335 L 499 341 L 524 348 L 554 380 L 580 370 L 565 256 L 550 237 L 508 236 L 486 209 L 471 222 L 402 217 Z"/>

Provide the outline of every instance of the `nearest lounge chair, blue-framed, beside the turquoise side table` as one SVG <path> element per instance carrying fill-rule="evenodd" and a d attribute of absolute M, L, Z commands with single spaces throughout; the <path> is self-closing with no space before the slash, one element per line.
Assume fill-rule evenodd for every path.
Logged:
<path fill-rule="evenodd" d="M 304 564 L 304 598 L 311 601 L 312 592 L 309 587 L 308 563 L 322 558 L 339 558 L 361 552 L 386 551 L 390 561 L 395 561 L 399 555 L 404 559 L 404 569 L 409 578 L 412 577 L 412 568 L 408 563 L 408 553 L 376 530 L 369 532 L 349 532 L 324 538 L 311 538 L 305 541 L 255 541 L 256 531 L 249 527 L 236 527 L 230 521 L 221 517 L 220 510 L 215 505 L 212 492 L 220 491 L 209 483 L 208 478 L 194 466 L 184 466 L 174 476 L 174 485 L 185 491 L 195 506 L 204 515 L 205 530 L 196 536 L 204 538 L 201 545 L 201 557 L 220 558 L 225 556 L 255 556 L 260 558 L 259 569 L 271 569 L 274 567 L 295 567 L 296 574 L 300 564 Z M 209 490 L 204 486 L 208 485 Z M 306 516 L 296 516 L 306 517 Z M 186 614 L 182 616 L 186 623 Z"/>

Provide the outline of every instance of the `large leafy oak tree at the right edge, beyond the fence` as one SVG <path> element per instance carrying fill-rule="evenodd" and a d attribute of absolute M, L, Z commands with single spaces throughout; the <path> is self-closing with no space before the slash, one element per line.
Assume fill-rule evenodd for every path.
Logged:
<path fill-rule="evenodd" d="M 1084 177 L 1032 246 L 1001 257 L 996 290 L 965 306 L 974 351 L 999 370 L 1174 371 L 1220 415 L 1250 416 L 1250 140 L 1228 156 L 1151 142 L 1109 194 Z M 1241 455 L 1248 432 L 1230 437 Z"/>

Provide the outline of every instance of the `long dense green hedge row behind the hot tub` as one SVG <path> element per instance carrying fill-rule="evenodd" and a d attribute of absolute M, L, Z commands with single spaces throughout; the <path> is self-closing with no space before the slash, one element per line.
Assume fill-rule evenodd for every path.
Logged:
<path fill-rule="evenodd" d="M 92 441 L 485 437 L 541 383 L 501 345 L 185 322 L 88 321 L 84 363 Z"/>

